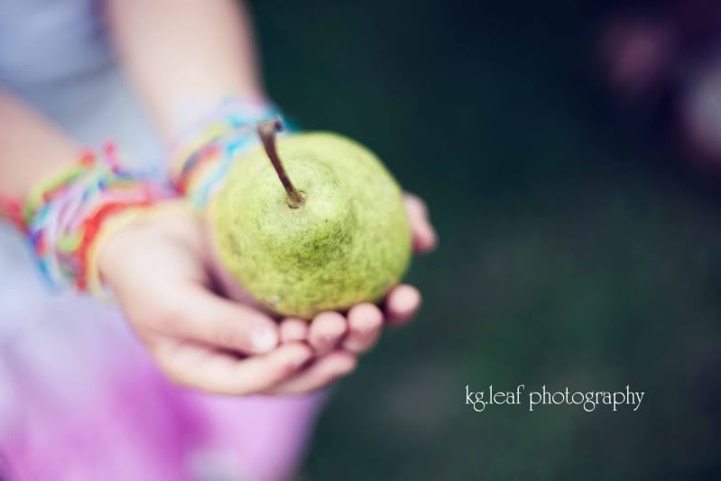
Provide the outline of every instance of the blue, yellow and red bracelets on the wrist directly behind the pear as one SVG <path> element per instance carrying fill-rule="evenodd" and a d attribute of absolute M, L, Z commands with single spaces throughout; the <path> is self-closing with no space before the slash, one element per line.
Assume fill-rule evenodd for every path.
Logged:
<path fill-rule="evenodd" d="M 258 123 L 280 116 L 273 104 L 260 98 L 222 102 L 172 149 L 172 185 L 196 206 L 205 206 L 238 154 L 258 143 Z"/>

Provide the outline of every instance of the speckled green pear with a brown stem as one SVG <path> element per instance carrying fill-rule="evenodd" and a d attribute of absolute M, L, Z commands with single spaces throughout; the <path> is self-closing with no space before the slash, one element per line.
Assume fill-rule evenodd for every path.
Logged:
<path fill-rule="evenodd" d="M 221 264 L 283 316 L 311 319 L 380 301 L 411 259 L 402 191 L 378 158 L 339 134 L 282 135 L 239 158 L 210 212 Z M 280 180 L 280 181 L 279 181 Z"/>

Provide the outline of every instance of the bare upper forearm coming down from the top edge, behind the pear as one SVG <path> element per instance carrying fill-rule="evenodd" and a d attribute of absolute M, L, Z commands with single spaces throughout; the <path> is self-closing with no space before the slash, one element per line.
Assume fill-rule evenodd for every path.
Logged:
<path fill-rule="evenodd" d="M 166 140 L 224 97 L 262 91 L 252 28 L 235 0 L 109 0 L 132 83 Z"/>

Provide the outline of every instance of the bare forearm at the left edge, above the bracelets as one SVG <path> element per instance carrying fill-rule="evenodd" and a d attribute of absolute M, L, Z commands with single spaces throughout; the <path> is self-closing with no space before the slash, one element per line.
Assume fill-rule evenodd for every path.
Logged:
<path fill-rule="evenodd" d="M 76 162 L 79 152 L 41 114 L 0 89 L 0 194 L 23 199 L 39 180 Z"/>

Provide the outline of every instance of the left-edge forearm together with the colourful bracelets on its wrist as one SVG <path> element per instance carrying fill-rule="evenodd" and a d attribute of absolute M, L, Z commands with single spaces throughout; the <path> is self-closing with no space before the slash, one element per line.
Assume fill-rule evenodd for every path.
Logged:
<path fill-rule="evenodd" d="M 105 239 L 173 193 L 127 171 L 108 145 L 94 153 L 0 91 L 0 220 L 27 237 L 53 285 L 102 293 Z"/>

